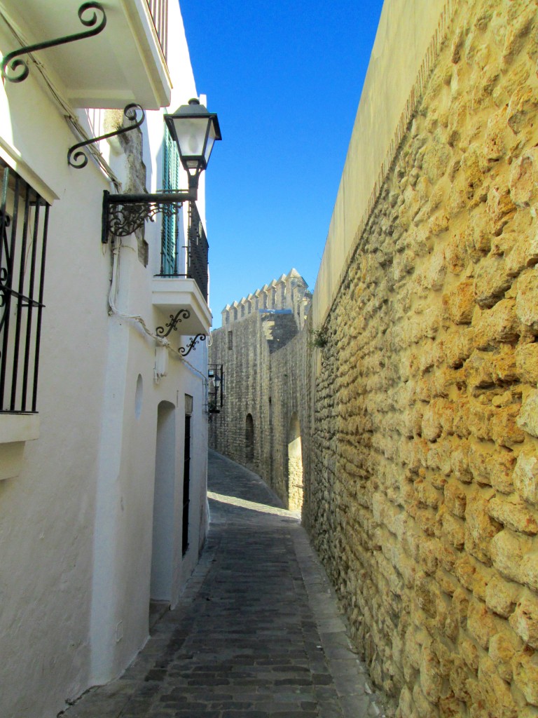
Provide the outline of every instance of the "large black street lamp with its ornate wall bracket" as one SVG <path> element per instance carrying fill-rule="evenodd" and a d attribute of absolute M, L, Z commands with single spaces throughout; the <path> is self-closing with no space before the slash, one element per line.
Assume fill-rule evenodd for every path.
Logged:
<path fill-rule="evenodd" d="M 164 121 L 177 145 L 181 164 L 189 175 L 189 189 L 136 195 L 111 195 L 105 190 L 103 244 L 108 242 L 109 235 L 126 237 L 156 214 L 164 213 L 170 217 L 184 202 L 195 202 L 198 198 L 199 175 L 207 167 L 214 141 L 222 139 L 217 115 L 193 99 L 188 105 L 181 105 L 175 113 L 166 114 Z"/>

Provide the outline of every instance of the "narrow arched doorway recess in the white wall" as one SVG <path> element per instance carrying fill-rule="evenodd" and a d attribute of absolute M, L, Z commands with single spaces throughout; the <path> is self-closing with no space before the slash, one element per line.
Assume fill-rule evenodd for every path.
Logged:
<path fill-rule="evenodd" d="M 174 485 L 176 477 L 176 407 L 161 401 L 157 407 L 154 526 L 151 552 L 151 603 L 170 604 L 174 550 Z"/>

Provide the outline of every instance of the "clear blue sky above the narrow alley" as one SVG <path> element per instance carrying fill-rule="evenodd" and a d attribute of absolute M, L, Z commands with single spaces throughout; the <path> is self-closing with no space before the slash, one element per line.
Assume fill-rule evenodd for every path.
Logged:
<path fill-rule="evenodd" d="M 382 0 L 180 0 L 222 142 L 207 168 L 213 326 L 295 267 L 313 290 Z"/>

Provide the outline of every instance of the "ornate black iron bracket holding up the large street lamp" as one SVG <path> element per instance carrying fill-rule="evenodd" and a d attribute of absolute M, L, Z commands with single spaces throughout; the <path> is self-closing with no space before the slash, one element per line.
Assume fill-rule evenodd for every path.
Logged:
<path fill-rule="evenodd" d="M 103 221 L 101 241 L 108 242 L 108 236 L 126 237 L 162 213 L 171 217 L 184 202 L 197 199 L 194 190 L 167 190 L 154 195 L 111 195 L 103 192 Z"/>

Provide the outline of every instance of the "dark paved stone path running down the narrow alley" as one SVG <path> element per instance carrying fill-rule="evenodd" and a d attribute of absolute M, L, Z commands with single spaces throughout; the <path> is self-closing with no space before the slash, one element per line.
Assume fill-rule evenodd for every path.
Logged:
<path fill-rule="evenodd" d="M 181 602 L 121 679 L 65 718 L 383 715 L 298 516 L 209 452 L 211 525 Z"/>

